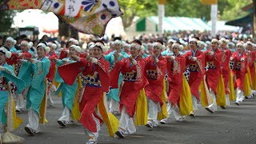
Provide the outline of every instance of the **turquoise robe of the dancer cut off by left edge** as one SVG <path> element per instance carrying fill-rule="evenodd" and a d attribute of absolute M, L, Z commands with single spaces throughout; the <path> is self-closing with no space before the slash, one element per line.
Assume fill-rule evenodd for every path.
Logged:
<path fill-rule="evenodd" d="M 5 113 L 6 103 L 8 102 L 9 90 L 7 90 L 7 82 L 12 82 L 16 86 L 16 93 L 20 94 L 25 88 L 25 82 L 21 78 L 17 78 L 14 74 L 13 67 L 5 63 L 4 71 L 0 71 L 0 119 L 6 124 L 7 117 Z M 10 88 L 10 87 L 9 87 Z"/>

